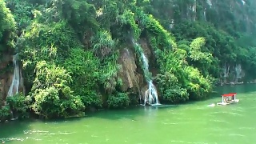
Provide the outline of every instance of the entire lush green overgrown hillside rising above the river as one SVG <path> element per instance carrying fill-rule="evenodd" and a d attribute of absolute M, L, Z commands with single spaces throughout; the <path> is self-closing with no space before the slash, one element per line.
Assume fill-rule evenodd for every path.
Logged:
<path fill-rule="evenodd" d="M 10 110 L 66 118 L 86 109 L 138 104 L 147 79 L 158 87 L 161 102 L 178 103 L 206 98 L 216 79 L 255 77 L 253 1 L 0 4 L 0 50 L 6 55 L 0 67 L 2 120 L 11 117 Z M 22 70 L 18 85 L 26 92 L 6 98 L 14 53 Z M 142 54 L 149 59 L 149 73 Z"/>

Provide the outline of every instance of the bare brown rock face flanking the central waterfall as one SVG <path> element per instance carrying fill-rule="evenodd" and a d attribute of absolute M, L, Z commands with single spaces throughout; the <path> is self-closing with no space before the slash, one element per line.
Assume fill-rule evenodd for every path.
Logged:
<path fill-rule="evenodd" d="M 146 58 L 152 59 L 152 53 L 150 51 L 150 46 L 148 45 L 146 39 L 140 39 L 139 44 L 146 55 Z M 146 90 L 148 89 L 148 84 L 144 78 L 144 74 L 141 66 L 138 64 L 138 58 L 134 54 L 134 47 L 129 46 L 120 51 L 120 57 L 118 59 L 121 69 L 119 70 L 118 77 L 122 79 L 122 90 L 131 90 L 133 93 L 140 95 L 143 99 Z M 153 62 L 150 61 L 149 66 L 151 67 L 150 72 L 155 73 Z"/>

